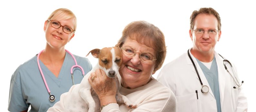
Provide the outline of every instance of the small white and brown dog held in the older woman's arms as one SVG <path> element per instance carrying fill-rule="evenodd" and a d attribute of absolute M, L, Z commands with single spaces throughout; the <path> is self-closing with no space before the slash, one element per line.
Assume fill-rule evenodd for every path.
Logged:
<path fill-rule="evenodd" d="M 128 98 L 119 93 L 119 68 L 122 64 L 122 52 L 118 47 L 105 47 L 103 49 L 91 50 L 86 56 L 92 54 L 93 57 L 98 58 L 98 64 L 85 75 L 80 84 L 73 85 L 69 92 L 63 93 L 61 96 L 61 107 L 65 111 L 79 112 L 97 112 L 100 111 L 100 102 L 97 94 L 93 91 L 88 82 L 91 72 L 96 69 L 102 69 L 110 78 L 116 78 L 117 92 L 116 100 L 119 103 L 124 103 L 128 108 L 136 108 L 137 105 L 132 104 Z M 92 80 L 92 79 L 89 79 Z M 96 101 L 96 102 L 95 102 Z M 57 104 L 56 103 L 56 104 Z M 60 104 L 58 104 L 60 105 Z M 89 109 L 88 109 L 89 108 Z"/>

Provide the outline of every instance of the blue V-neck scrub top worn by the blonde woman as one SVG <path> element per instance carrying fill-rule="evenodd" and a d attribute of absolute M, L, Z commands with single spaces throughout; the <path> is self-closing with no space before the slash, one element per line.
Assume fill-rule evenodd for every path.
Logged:
<path fill-rule="evenodd" d="M 77 64 L 80 65 L 85 75 L 92 69 L 87 58 L 74 55 Z M 31 112 L 46 112 L 60 100 L 64 92 L 68 92 L 72 86 L 71 67 L 75 65 L 72 56 L 66 52 L 64 62 L 58 78 L 39 60 L 45 80 L 55 96 L 55 101 L 49 101 L 49 93 L 43 82 L 43 78 L 37 65 L 37 56 L 20 65 L 11 78 L 8 110 L 20 112 L 26 110 L 31 105 Z M 82 81 L 82 71 L 80 68 L 73 68 L 74 84 Z"/>

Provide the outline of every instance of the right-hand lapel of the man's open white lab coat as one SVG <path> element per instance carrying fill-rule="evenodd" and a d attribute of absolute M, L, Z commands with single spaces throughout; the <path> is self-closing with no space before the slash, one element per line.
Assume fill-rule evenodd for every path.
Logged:
<path fill-rule="evenodd" d="M 223 101 L 224 101 L 224 91 L 225 91 L 225 83 L 226 83 L 226 70 L 223 65 L 223 58 L 217 53 L 214 52 L 214 56 L 216 59 L 217 67 L 218 67 L 218 77 L 219 77 L 219 90 L 220 90 L 220 102 L 221 107 L 223 107 Z"/>

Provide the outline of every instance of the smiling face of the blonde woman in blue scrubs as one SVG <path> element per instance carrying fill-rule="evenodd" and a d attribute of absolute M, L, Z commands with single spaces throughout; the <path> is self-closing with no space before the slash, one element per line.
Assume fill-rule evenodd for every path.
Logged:
<path fill-rule="evenodd" d="M 58 21 L 62 26 L 68 26 L 74 29 L 75 19 L 70 18 L 66 20 L 59 20 L 59 18 L 55 18 L 54 20 Z M 51 25 L 51 21 L 45 21 L 44 23 L 44 31 L 45 37 L 47 41 L 47 46 L 51 48 L 62 48 L 64 47 L 74 36 L 74 32 L 71 34 L 67 34 L 63 32 L 63 28 L 53 28 Z"/>

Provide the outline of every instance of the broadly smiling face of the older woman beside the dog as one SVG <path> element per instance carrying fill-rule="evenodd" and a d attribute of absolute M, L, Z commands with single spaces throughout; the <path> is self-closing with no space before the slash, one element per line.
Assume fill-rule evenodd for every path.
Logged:
<path fill-rule="evenodd" d="M 122 46 L 129 46 L 134 48 L 137 52 L 133 57 L 127 57 L 123 54 L 123 63 L 119 70 L 122 77 L 121 84 L 125 88 L 135 89 L 149 82 L 153 70 L 155 68 L 155 61 L 144 63 L 139 58 L 138 52 L 148 52 L 156 57 L 156 52 L 153 48 L 147 47 L 144 44 L 138 43 L 136 40 L 126 38 Z"/>

